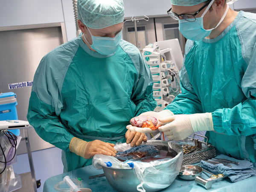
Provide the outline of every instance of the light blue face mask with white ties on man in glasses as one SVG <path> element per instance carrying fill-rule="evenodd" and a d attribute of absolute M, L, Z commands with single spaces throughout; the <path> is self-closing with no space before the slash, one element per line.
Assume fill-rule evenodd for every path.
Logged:
<path fill-rule="evenodd" d="M 203 38 L 206 38 L 207 36 L 209 36 L 210 33 L 212 32 L 212 30 L 216 29 L 221 24 L 221 22 L 224 20 L 224 18 L 227 15 L 229 6 L 227 6 L 227 9 L 226 9 L 224 15 L 222 16 L 222 18 L 219 21 L 219 23 L 217 24 L 217 26 L 215 26 L 215 28 L 204 29 L 204 19 L 203 18 L 204 18 L 204 15 L 207 13 L 207 11 L 212 6 L 213 2 L 214 2 L 214 0 L 212 0 L 212 2 L 207 6 L 207 9 L 204 11 L 203 15 L 201 17 L 196 18 L 195 21 L 189 22 L 186 20 L 179 20 L 179 30 L 185 38 L 190 39 L 192 41 L 200 41 Z"/>

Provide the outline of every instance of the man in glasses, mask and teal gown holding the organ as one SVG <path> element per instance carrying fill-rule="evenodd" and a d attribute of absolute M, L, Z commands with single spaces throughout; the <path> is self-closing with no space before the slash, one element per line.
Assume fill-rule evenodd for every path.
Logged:
<path fill-rule="evenodd" d="M 225 0 L 171 3 L 169 15 L 188 39 L 182 93 L 164 111 L 147 113 L 166 123 L 159 130 L 169 139 L 207 131 L 218 152 L 255 165 L 256 14 L 233 11 Z"/>

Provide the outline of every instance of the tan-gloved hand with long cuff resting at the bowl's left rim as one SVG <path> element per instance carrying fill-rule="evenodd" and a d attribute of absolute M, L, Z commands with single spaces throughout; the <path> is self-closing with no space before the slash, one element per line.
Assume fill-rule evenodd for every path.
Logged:
<path fill-rule="evenodd" d="M 84 159 L 90 159 L 96 154 L 104 154 L 109 156 L 115 156 L 116 150 L 114 149 L 114 144 L 105 143 L 100 140 L 94 140 L 86 142 L 79 138 L 73 137 L 70 141 L 70 151 L 84 157 Z"/>

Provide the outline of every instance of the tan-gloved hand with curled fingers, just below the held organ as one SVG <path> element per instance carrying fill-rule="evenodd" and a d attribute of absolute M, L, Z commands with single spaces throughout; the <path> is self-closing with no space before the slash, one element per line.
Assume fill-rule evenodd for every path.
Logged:
<path fill-rule="evenodd" d="M 138 146 L 143 141 L 147 141 L 148 137 L 145 135 L 145 133 L 130 131 L 128 129 L 125 133 L 125 139 L 127 144 L 131 143 L 131 146 L 134 147 L 134 145 Z"/>

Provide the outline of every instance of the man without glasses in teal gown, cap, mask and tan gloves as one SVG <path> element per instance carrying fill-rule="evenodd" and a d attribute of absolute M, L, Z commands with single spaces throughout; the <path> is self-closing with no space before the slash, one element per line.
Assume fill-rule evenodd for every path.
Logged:
<path fill-rule="evenodd" d="M 38 135 L 61 148 L 64 172 L 88 166 L 95 154 L 115 155 L 145 134 L 125 129 L 157 103 L 139 49 L 121 40 L 122 0 L 78 0 L 79 37 L 42 58 L 27 118 Z"/>

